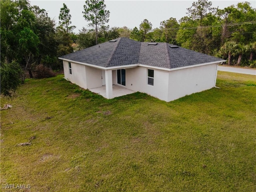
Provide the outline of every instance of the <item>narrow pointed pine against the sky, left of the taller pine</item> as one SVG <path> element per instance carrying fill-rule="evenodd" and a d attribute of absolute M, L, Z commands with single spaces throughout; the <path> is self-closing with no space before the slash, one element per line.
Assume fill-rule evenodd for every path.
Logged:
<path fill-rule="evenodd" d="M 64 28 L 67 33 L 72 32 L 76 26 L 70 26 L 71 24 L 71 15 L 69 14 L 70 10 L 66 6 L 66 4 L 63 3 L 63 7 L 60 8 L 60 15 L 59 15 L 59 24 L 61 28 Z"/>

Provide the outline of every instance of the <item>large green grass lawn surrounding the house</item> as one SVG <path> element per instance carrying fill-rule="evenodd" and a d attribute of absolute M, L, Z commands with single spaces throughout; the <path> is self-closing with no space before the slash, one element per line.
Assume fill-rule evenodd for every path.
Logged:
<path fill-rule="evenodd" d="M 256 78 L 218 72 L 216 86 L 164 102 L 27 80 L 1 96 L 1 191 L 255 192 Z"/>

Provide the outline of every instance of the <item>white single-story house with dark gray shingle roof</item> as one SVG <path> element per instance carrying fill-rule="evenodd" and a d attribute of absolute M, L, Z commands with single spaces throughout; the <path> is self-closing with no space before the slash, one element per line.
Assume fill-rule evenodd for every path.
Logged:
<path fill-rule="evenodd" d="M 213 88 L 225 60 L 163 42 L 116 38 L 59 57 L 64 78 L 105 98 L 144 92 L 172 101 Z"/>

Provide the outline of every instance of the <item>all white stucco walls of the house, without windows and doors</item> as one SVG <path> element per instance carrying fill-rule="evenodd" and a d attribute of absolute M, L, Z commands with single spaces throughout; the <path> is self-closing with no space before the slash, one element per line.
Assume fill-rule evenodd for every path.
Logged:
<path fill-rule="evenodd" d="M 69 74 L 68 62 L 63 61 L 64 78 L 78 86 L 91 89 L 102 86 L 102 70 L 72 63 Z M 208 90 L 215 86 L 217 64 L 165 71 L 138 66 L 126 68 L 125 88 L 144 92 L 160 100 L 172 101 L 183 96 Z M 148 85 L 148 69 L 154 70 L 154 86 Z M 112 70 L 112 84 L 117 84 L 116 70 Z"/>

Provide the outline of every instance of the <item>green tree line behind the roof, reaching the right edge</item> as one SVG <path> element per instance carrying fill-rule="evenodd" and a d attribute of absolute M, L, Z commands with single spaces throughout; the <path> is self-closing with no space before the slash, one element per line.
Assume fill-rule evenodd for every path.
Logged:
<path fill-rule="evenodd" d="M 179 21 L 169 18 L 152 29 L 144 19 L 139 28 L 109 28 L 102 25 L 98 36 L 95 30 L 83 28 L 76 35 L 77 50 L 117 37 L 141 42 L 167 42 L 184 48 L 226 59 L 226 64 L 256 67 L 256 9 L 248 2 L 224 9 L 213 8 L 212 2 L 198 0 L 187 8 Z"/>

